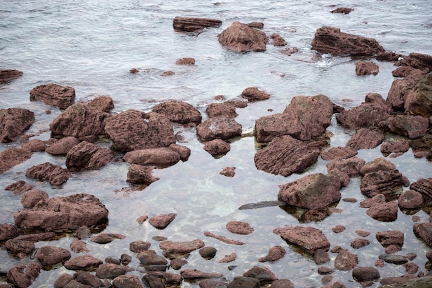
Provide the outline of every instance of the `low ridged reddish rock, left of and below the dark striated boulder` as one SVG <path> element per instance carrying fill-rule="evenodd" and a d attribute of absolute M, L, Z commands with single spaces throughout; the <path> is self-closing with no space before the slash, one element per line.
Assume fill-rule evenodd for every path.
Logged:
<path fill-rule="evenodd" d="M 51 185 L 61 185 L 65 183 L 70 178 L 70 175 L 68 169 L 48 162 L 33 165 L 26 170 L 27 177 L 49 181 Z"/>

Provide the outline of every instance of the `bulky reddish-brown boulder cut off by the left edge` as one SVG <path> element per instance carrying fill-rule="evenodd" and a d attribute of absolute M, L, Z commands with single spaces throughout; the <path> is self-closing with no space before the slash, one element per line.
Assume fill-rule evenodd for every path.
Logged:
<path fill-rule="evenodd" d="M 35 123 L 35 113 L 23 108 L 0 109 L 0 142 L 17 140 Z"/>

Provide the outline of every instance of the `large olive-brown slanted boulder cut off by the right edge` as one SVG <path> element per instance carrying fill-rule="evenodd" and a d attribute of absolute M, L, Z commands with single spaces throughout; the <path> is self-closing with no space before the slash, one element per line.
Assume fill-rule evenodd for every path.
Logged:
<path fill-rule="evenodd" d="M 432 116 L 432 72 L 422 76 L 406 96 L 405 112 L 424 117 Z"/>

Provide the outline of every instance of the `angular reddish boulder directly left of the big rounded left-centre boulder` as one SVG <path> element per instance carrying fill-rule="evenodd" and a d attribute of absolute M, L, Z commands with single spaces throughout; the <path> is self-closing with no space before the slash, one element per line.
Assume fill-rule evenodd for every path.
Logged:
<path fill-rule="evenodd" d="M 61 136 L 93 136 L 105 134 L 105 119 L 110 114 L 98 108 L 78 103 L 69 106 L 59 114 L 51 123 L 52 133 Z"/>

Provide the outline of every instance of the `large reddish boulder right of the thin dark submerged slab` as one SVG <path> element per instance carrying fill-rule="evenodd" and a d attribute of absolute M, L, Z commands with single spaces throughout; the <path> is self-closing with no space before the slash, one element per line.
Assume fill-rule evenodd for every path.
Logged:
<path fill-rule="evenodd" d="M 340 200 L 340 177 L 333 174 L 309 174 L 279 185 L 277 200 L 305 209 L 320 209 Z"/>

